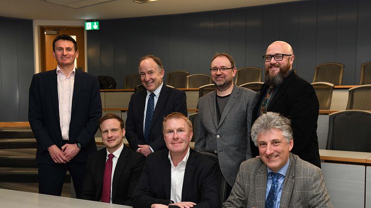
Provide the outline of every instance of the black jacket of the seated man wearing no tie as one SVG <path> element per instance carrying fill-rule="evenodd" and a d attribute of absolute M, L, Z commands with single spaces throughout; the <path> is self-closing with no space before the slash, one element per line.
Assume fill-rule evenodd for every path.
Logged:
<path fill-rule="evenodd" d="M 206 156 L 189 150 L 184 174 L 182 202 L 194 202 L 193 208 L 217 208 L 219 188 L 217 166 Z M 149 154 L 132 203 L 134 208 L 150 208 L 152 204 L 169 205 L 171 194 L 171 163 L 169 150 Z"/>

